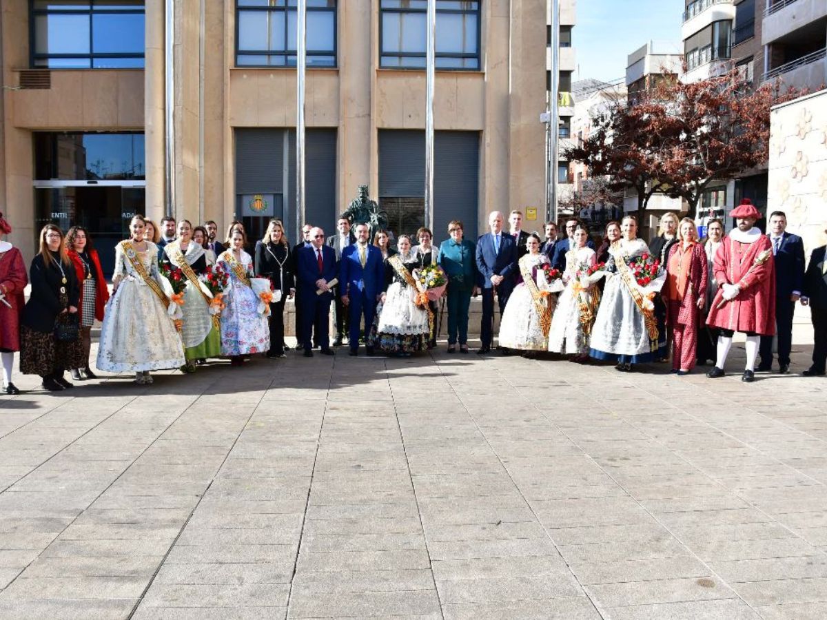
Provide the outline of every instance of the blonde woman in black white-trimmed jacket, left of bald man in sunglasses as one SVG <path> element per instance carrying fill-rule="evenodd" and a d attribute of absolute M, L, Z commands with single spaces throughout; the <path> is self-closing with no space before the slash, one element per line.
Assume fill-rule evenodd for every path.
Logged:
<path fill-rule="evenodd" d="M 295 284 L 290 246 L 280 220 L 270 220 L 264 238 L 256 243 L 256 275 L 269 278 L 281 299 L 270 303 L 270 351 L 267 357 L 284 357 L 284 302 L 293 297 Z"/>

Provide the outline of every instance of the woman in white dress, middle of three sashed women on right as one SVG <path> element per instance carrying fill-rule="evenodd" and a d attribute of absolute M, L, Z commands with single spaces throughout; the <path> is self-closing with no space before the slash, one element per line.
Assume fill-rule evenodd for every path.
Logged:
<path fill-rule="evenodd" d="M 574 247 L 566 252 L 563 274 L 566 290 L 557 300 L 552 329 L 548 333 L 548 351 L 571 355 L 570 359 L 576 362 L 589 358 L 591 329 L 600 306 L 597 278 L 583 273 L 597 265 L 595 250 L 586 246 L 588 240 L 589 231 L 578 225 L 574 231 Z"/>

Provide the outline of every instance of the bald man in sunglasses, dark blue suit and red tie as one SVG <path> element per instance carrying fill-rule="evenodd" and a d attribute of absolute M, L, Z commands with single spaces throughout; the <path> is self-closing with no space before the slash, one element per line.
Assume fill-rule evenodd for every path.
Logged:
<path fill-rule="evenodd" d="M 302 333 L 307 335 L 311 329 L 318 337 L 318 344 L 324 355 L 333 355 L 330 348 L 330 303 L 333 293 L 327 284 L 338 275 L 336 252 L 324 245 L 324 231 L 313 228 L 310 231 L 310 247 L 299 248 L 297 259 L 297 280 L 301 282 Z M 317 293 L 321 291 L 321 293 Z M 299 293 L 296 293 L 299 296 Z M 304 356 L 313 357 L 310 337 L 304 340 Z"/>

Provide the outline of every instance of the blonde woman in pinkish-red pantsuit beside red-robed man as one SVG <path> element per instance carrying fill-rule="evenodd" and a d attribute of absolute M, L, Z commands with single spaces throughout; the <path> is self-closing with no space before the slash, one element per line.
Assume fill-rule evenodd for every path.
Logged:
<path fill-rule="evenodd" d="M 709 272 L 704 246 L 698 243 L 695 222 L 684 217 L 678 242 L 669 250 L 667 281 L 661 292 L 667 304 L 667 327 L 672 332 L 672 372 L 683 375 L 695 368 L 700 311 L 706 304 Z"/>

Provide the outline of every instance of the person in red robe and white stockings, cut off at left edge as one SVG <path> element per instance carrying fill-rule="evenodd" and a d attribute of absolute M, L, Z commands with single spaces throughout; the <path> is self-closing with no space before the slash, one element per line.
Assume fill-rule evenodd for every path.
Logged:
<path fill-rule="evenodd" d="M 2 360 L 2 391 L 4 394 L 19 394 L 12 384 L 14 352 L 20 351 L 20 316 L 23 305 L 23 289 L 29 282 L 23 255 L 3 237 L 12 232 L 12 227 L 0 213 L 0 360 Z"/>

